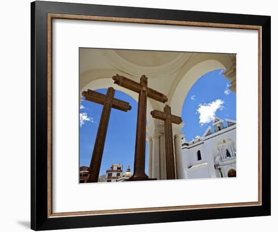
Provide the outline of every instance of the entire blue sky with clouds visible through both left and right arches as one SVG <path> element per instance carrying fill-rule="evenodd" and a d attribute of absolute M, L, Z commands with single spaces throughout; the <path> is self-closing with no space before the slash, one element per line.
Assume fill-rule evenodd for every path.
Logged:
<path fill-rule="evenodd" d="M 189 91 L 184 101 L 181 118 L 185 122 L 183 133 L 188 141 L 202 136 L 211 120 L 217 116 L 236 120 L 236 95 L 228 89 L 230 83 L 215 70 L 202 76 Z M 96 91 L 106 94 L 107 89 Z M 105 174 L 111 164 L 123 164 L 124 171 L 130 165 L 133 172 L 137 102 L 124 92 L 115 91 L 115 98 L 129 102 L 128 112 L 112 109 L 103 153 L 101 174 Z M 89 166 L 96 140 L 98 124 L 103 106 L 82 100 L 80 107 L 80 166 Z M 148 144 L 146 142 L 146 154 Z M 146 156 L 146 173 L 148 157 Z"/>

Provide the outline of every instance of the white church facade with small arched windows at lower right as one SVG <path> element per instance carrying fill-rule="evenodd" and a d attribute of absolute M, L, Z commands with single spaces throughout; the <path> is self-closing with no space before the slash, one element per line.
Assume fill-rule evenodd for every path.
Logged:
<path fill-rule="evenodd" d="M 208 127 L 202 137 L 182 143 L 184 172 L 187 178 L 236 176 L 236 121 L 214 119 L 214 131 Z"/>

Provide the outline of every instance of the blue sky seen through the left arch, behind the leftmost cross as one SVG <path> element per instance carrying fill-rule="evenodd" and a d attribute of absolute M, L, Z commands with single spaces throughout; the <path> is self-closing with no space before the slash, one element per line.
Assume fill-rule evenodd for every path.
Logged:
<path fill-rule="evenodd" d="M 95 89 L 95 91 L 106 94 L 107 89 Z M 131 169 L 133 169 L 137 102 L 131 96 L 119 90 L 115 91 L 115 98 L 129 102 L 132 109 L 127 112 L 119 111 L 113 108 L 111 110 L 100 176 L 106 173 L 106 170 L 109 169 L 111 164 L 122 164 L 124 169 L 130 165 Z M 80 114 L 86 113 L 86 118 L 88 119 L 81 125 L 79 131 L 79 159 L 81 166 L 89 166 L 90 164 L 102 109 L 103 106 L 100 104 L 85 100 L 81 101 Z M 147 142 L 146 151 L 148 151 Z M 132 171 L 133 170 L 131 170 L 131 172 Z"/>

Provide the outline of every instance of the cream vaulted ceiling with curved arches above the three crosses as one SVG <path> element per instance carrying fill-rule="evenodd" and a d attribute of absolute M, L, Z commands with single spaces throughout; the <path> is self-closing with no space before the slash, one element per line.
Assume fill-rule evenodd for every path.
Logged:
<path fill-rule="evenodd" d="M 233 75 L 226 76 L 234 91 L 236 86 L 236 74 L 232 72 L 236 55 L 81 48 L 79 60 L 80 93 L 87 88 L 112 86 L 137 99 L 136 93 L 115 85 L 112 76 L 119 74 L 139 81 L 144 74 L 148 77 L 148 86 L 166 95 L 167 104 L 177 115 L 192 85 L 210 71 L 229 70 Z M 164 104 L 154 100 L 148 102 L 148 111 L 163 107 Z"/>

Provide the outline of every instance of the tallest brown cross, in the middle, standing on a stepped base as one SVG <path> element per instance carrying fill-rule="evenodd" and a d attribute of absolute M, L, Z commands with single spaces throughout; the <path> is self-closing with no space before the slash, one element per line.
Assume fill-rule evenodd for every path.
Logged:
<path fill-rule="evenodd" d="M 147 120 L 147 98 L 165 103 L 168 101 L 167 96 L 161 94 L 152 88 L 148 87 L 148 78 L 143 75 L 140 78 L 140 83 L 130 80 L 124 76 L 116 75 L 112 77 L 115 84 L 137 92 L 138 97 L 138 112 L 136 125 L 136 142 L 134 155 L 134 170 L 133 175 L 129 180 L 148 180 L 149 176 L 145 173 L 145 152 L 146 152 L 146 120 Z"/>

